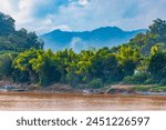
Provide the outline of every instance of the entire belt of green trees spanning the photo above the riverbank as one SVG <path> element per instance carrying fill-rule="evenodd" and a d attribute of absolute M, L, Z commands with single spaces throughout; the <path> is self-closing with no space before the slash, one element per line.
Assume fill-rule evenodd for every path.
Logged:
<path fill-rule="evenodd" d="M 6 19 L 7 18 L 7 19 Z M 6 23 L 4 23 L 6 22 Z M 166 84 L 166 22 L 157 19 L 146 33 L 114 48 L 42 50 L 34 32 L 14 30 L 14 20 L 0 13 L 0 76 L 15 82 L 70 83 L 72 87 L 102 88 L 126 83 Z M 17 53 L 14 52 L 17 51 Z"/>

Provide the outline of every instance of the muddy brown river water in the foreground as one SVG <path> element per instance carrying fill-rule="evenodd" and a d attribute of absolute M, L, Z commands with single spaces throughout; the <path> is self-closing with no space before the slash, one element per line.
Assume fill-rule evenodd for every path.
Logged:
<path fill-rule="evenodd" d="M 0 110 L 114 111 L 166 110 L 166 96 L 0 92 Z"/>

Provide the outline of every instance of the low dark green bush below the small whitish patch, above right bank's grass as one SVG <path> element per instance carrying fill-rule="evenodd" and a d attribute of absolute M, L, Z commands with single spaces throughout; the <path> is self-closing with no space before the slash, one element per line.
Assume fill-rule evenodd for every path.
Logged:
<path fill-rule="evenodd" d="M 136 73 L 124 78 L 125 83 L 144 84 L 149 78 L 147 72 Z"/>

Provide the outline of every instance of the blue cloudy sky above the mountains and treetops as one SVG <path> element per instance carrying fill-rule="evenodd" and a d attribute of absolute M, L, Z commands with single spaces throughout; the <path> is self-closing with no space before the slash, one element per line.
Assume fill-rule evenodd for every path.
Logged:
<path fill-rule="evenodd" d="M 15 19 L 17 29 L 39 34 L 54 29 L 146 29 L 156 18 L 166 19 L 165 7 L 166 0 L 0 0 L 0 11 Z"/>

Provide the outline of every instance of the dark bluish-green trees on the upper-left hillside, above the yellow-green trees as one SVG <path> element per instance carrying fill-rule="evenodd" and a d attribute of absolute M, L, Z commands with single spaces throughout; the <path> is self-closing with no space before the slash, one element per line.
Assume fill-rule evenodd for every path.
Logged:
<path fill-rule="evenodd" d="M 0 12 L 0 51 L 21 52 L 30 48 L 42 49 L 43 42 L 34 32 L 25 29 L 17 31 L 14 20 Z"/>

